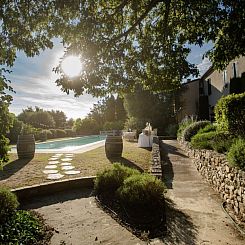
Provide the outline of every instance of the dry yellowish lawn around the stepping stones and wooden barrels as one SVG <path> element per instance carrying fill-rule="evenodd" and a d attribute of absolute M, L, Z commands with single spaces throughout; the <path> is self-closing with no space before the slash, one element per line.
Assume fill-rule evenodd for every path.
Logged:
<path fill-rule="evenodd" d="M 32 160 L 18 160 L 16 154 L 10 154 L 10 161 L 0 171 L 0 186 L 9 188 L 50 182 L 42 171 L 48 164 L 48 159 L 55 153 L 36 153 Z M 125 165 L 148 171 L 150 168 L 151 151 L 138 148 L 136 142 L 124 141 L 122 158 L 119 161 Z M 99 147 L 85 153 L 74 154 L 71 161 L 77 175 L 65 175 L 62 179 L 94 176 L 98 171 L 110 168 L 112 162 L 106 158 L 104 147 Z M 58 167 L 59 169 L 60 167 Z"/>

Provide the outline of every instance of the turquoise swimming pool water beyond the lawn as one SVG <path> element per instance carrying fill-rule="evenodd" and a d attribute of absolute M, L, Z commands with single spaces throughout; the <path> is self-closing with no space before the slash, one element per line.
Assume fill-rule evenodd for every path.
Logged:
<path fill-rule="evenodd" d="M 73 139 L 51 141 L 45 143 L 36 143 L 36 149 L 74 149 L 82 145 L 87 145 L 90 143 L 95 143 L 97 141 L 104 140 L 106 136 L 104 135 L 90 135 L 83 137 L 76 137 Z"/>

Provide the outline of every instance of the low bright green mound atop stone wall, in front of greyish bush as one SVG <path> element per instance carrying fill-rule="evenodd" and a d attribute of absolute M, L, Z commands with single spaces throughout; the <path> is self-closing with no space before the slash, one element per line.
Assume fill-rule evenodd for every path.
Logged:
<path fill-rule="evenodd" d="M 215 137 L 215 132 L 197 133 L 191 138 L 191 146 L 195 149 L 212 150 L 212 140 Z"/>

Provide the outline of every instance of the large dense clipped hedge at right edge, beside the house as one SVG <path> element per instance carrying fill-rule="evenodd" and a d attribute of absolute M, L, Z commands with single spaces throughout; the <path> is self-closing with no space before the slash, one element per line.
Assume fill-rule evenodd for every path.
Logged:
<path fill-rule="evenodd" d="M 237 136 L 245 134 L 245 93 L 222 97 L 214 112 L 220 131 Z"/>

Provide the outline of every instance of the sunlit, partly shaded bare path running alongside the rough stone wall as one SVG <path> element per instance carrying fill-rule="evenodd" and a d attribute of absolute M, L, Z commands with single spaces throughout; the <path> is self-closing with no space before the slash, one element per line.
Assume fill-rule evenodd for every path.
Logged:
<path fill-rule="evenodd" d="M 245 244 L 244 237 L 223 211 L 219 194 L 202 179 L 178 142 L 164 140 L 163 150 L 166 195 L 182 212 L 181 218 L 167 216 L 172 229 L 168 227 L 164 244 Z"/>

